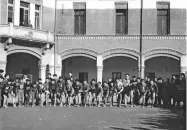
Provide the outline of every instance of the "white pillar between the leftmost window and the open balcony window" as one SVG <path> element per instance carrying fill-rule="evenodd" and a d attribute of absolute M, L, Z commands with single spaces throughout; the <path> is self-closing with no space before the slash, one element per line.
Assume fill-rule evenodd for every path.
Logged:
<path fill-rule="evenodd" d="M 14 1 L 14 25 L 19 26 L 19 18 L 20 18 L 20 0 Z"/>

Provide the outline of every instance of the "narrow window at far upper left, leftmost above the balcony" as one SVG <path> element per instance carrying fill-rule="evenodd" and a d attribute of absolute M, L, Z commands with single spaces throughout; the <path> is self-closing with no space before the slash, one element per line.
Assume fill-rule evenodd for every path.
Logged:
<path fill-rule="evenodd" d="M 8 23 L 13 23 L 14 20 L 14 1 L 8 0 Z"/>

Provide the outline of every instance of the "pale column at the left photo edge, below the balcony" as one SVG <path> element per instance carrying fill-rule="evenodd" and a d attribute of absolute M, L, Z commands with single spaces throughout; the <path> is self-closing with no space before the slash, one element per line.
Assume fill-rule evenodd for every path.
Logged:
<path fill-rule="evenodd" d="M 4 50 L 4 45 L 0 43 L 0 69 L 4 70 L 6 73 L 6 64 L 7 64 L 7 52 Z"/>

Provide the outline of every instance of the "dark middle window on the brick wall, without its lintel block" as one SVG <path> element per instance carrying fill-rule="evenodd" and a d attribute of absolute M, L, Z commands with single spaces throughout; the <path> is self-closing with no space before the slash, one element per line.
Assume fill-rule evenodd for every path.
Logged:
<path fill-rule="evenodd" d="M 116 34 L 128 33 L 128 10 L 116 9 Z"/>

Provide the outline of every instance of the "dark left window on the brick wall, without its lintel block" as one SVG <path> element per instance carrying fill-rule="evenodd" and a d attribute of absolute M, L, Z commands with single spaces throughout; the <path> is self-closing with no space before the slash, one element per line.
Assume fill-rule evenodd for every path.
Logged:
<path fill-rule="evenodd" d="M 74 10 L 75 34 L 86 34 L 86 10 Z"/>

